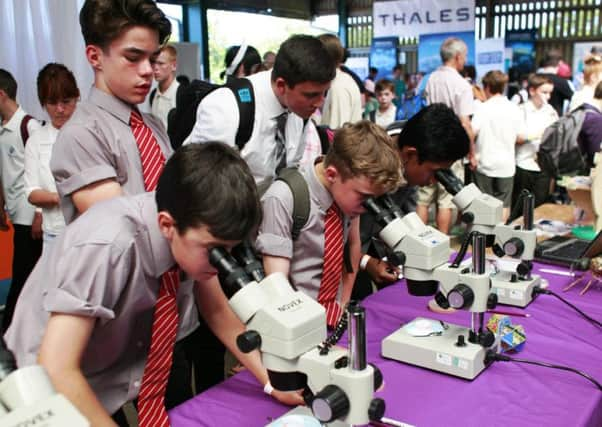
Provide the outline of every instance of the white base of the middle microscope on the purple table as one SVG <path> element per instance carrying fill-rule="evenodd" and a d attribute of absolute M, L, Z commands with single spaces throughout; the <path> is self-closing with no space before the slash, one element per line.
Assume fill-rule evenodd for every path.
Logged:
<path fill-rule="evenodd" d="M 486 349 L 468 342 L 467 328 L 445 324 L 441 335 L 411 335 L 408 325 L 419 320 L 425 319 L 418 317 L 386 337 L 382 342 L 382 356 L 468 380 L 486 368 Z M 463 346 L 456 345 L 459 335 L 464 336 Z"/>

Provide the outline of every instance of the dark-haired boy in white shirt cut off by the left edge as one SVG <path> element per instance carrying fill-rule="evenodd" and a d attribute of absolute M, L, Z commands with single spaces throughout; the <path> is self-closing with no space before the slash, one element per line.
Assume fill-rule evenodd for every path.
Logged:
<path fill-rule="evenodd" d="M 30 120 L 16 99 L 16 80 L 0 69 L 0 231 L 8 230 L 7 213 L 14 230 L 12 280 L 2 331 L 10 325 L 21 288 L 42 253 L 42 212 L 27 201 L 24 178 L 25 144 L 40 124 Z"/>

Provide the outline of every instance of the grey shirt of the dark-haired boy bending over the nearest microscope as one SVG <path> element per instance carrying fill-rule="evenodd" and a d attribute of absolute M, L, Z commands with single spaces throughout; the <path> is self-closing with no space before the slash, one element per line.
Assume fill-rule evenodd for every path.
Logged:
<path fill-rule="evenodd" d="M 19 367 L 36 363 L 51 312 L 95 317 L 81 369 L 109 413 L 138 396 L 161 275 L 175 264 L 154 193 L 92 206 L 55 240 L 21 292 L 4 336 Z M 178 336 L 196 327 L 192 281 L 178 291 Z"/>

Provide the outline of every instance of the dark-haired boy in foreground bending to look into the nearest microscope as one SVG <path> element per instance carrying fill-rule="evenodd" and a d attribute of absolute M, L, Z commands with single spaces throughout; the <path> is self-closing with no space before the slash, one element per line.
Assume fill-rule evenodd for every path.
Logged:
<path fill-rule="evenodd" d="M 113 425 L 110 414 L 138 398 L 140 426 L 167 426 L 163 393 L 176 329 L 190 316 L 183 303 L 196 299 L 220 339 L 266 383 L 258 353 L 234 344 L 244 326 L 208 260 L 209 249 L 231 248 L 260 220 L 255 183 L 233 149 L 178 150 L 156 193 L 96 204 L 38 263 L 6 334 L 18 365 L 42 364 L 92 425 Z M 184 276 L 191 280 L 180 284 Z"/>

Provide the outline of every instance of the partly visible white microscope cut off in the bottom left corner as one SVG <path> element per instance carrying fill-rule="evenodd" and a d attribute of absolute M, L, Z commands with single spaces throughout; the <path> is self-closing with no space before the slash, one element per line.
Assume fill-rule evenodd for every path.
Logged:
<path fill-rule="evenodd" d="M 0 337 L 0 427 L 87 427 L 88 421 L 57 394 L 40 365 L 17 369 Z"/>

